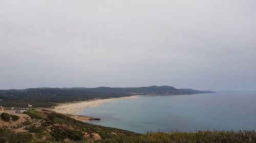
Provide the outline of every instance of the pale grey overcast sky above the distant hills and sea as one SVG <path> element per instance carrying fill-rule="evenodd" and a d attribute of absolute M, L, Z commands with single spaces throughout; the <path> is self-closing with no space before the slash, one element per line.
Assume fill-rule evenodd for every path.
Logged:
<path fill-rule="evenodd" d="M 256 89 L 255 0 L 0 0 L 0 89 Z"/>

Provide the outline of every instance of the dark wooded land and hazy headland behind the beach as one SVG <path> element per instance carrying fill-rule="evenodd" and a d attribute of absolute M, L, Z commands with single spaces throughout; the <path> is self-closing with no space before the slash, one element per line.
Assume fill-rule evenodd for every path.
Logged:
<path fill-rule="evenodd" d="M 116 98 L 132 95 L 191 95 L 214 93 L 169 86 L 140 88 L 36 88 L 25 90 L 0 90 L 0 105 L 5 107 L 52 107 L 57 103 L 84 101 L 94 98 Z"/>

